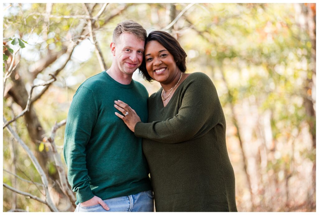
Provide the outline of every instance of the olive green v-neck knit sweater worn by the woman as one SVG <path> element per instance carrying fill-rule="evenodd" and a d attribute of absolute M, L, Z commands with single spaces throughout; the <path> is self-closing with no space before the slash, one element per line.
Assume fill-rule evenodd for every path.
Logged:
<path fill-rule="evenodd" d="M 161 90 L 149 98 L 149 123 L 135 126 L 145 138 L 156 211 L 237 211 L 226 121 L 212 81 L 190 74 L 166 107 Z"/>

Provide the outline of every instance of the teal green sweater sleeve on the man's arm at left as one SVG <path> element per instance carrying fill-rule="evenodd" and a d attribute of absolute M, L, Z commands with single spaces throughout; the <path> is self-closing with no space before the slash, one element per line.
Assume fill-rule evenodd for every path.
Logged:
<path fill-rule="evenodd" d="M 79 202 L 93 198 L 90 177 L 86 168 L 85 146 L 98 115 L 97 105 L 90 89 L 80 87 L 70 105 L 64 136 L 64 159 L 68 166 L 68 181 Z"/>

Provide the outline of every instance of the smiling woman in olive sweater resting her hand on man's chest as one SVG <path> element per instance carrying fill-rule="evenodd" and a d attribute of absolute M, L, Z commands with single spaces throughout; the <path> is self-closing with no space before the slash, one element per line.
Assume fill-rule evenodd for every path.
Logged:
<path fill-rule="evenodd" d="M 149 123 L 117 100 L 115 113 L 137 137 L 150 168 L 156 211 L 237 211 L 226 121 L 204 73 L 186 74 L 186 53 L 163 31 L 145 41 L 140 71 L 161 88 L 148 101 Z"/>

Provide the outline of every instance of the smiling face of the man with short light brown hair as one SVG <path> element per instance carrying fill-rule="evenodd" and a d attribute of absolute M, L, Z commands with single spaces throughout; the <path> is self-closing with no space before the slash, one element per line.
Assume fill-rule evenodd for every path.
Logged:
<path fill-rule="evenodd" d="M 142 64 L 144 43 L 130 33 L 122 33 L 116 43 L 111 43 L 114 61 L 122 73 L 132 75 Z"/>

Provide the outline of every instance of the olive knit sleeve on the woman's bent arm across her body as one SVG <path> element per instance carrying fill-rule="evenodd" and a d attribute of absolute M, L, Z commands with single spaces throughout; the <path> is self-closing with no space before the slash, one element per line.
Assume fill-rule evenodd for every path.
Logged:
<path fill-rule="evenodd" d="M 216 88 L 207 75 L 197 76 L 182 89 L 178 113 L 165 121 L 138 122 L 137 137 L 164 143 L 199 138 L 216 126 L 221 109 Z"/>

